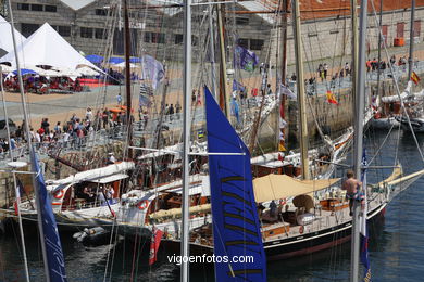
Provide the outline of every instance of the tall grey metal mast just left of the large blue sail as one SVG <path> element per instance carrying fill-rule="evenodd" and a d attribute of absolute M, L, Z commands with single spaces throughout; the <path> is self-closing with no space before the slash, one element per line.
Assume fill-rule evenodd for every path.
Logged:
<path fill-rule="evenodd" d="M 190 152 L 190 101 L 191 101 L 191 0 L 184 1 L 184 73 L 183 73 L 183 205 L 182 243 L 183 256 L 180 281 L 189 281 L 189 159 Z"/>

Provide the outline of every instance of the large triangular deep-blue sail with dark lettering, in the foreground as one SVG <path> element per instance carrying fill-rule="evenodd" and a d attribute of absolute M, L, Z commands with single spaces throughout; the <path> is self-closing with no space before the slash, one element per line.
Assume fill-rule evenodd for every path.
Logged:
<path fill-rule="evenodd" d="M 215 262 L 215 281 L 266 281 L 249 150 L 207 87 L 204 95 L 209 152 L 245 153 L 209 156 L 214 255 L 228 259 Z M 240 257 L 249 261 L 232 262 Z"/>

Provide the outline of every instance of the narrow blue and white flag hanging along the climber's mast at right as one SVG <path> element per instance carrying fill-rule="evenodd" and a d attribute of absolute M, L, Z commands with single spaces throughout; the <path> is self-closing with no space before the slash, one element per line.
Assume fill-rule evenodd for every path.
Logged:
<path fill-rule="evenodd" d="M 365 150 L 362 155 L 362 166 L 366 167 Z M 364 266 L 364 281 L 371 281 L 371 267 L 369 256 L 369 231 L 366 228 L 366 214 L 367 214 L 367 198 L 366 198 L 366 169 L 362 171 L 362 190 L 363 190 L 363 208 L 360 221 L 360 233 L 361 233 L 361 262 Z"/>

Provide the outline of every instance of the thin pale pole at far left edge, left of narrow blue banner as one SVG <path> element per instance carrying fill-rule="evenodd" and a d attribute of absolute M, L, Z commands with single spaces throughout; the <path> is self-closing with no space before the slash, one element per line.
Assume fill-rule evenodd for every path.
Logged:
<path fill-rule="evenodd" d="M 14 33 L 14 27 L 12 27 L 12 33 Z M 5 119 L 5 129 L 8 131 L 8 142 L 9 142 L 9 155 L 11 162 L 13 162 L 13 152 L 12 152 L 12 142 L 10 138 L 10 127 L 9 127 L 9 118 L 8 118 L 8 108 L 5 106 L 5 100 L 4 100 L 4 86 L 3 86 L 3 68 L 0 65 L 0 87 L 1 87 L 1 99 L 3 101 L 3 112 L 4 112 L 4 119 Z M 21 244 L 22 244 L 22 255 L 24 256 L 24 270 L 25 270 L 25 279 L 27 282 L 29 282 L 29 271 L 28 271 L 28 260 L 26 258 L 26 246 L 25 246 L 25 238 L 24 238 L 24 228 L 22 226 L 22 216 L 21 216 L 21 196 L 20 196 L 20 190 L 16 184 L 16 174 L 12 172 L 13 175 L 13 185 L 15 189 L 15 202 L 16 202 L 16 210 L 17 210 L 17 222 L 20 226 L 20 233 L 21 233 Z"/>

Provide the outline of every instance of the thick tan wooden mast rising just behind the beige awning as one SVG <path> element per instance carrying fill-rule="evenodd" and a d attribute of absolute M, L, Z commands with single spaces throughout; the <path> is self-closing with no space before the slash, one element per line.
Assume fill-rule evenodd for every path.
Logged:
<path fill-rule="evenodd" d="M 300 126 L 300 154 L 302 165 L 303 179 L 310 179 L 309 158 L 308 158 L 308 120 L 307 120 L 307 103 L 304 95 L 304 79 L 303 79 L 303 59 L 301 46 L 300 30 L 300 11 L 299 0 L 292 0 L 292 22 L 295 35 L 295 55 L 296 55 L 296 76 L 297 76 L 297 92 L 299 101 L 299 126 Z"/>

